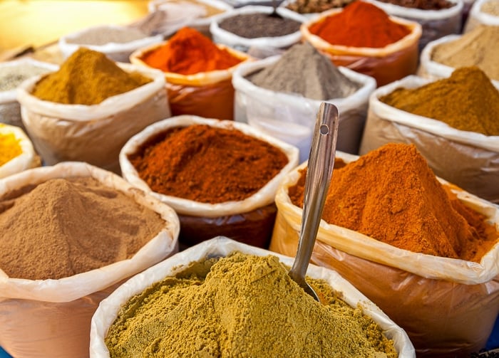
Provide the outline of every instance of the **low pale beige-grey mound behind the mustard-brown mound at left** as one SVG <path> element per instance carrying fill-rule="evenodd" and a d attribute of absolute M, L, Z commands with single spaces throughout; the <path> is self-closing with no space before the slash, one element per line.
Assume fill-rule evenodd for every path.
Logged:
<path fill-rule="evenodd" d="M 106 43 L 128 43 L 145 37 L 148 37 L 148 34 L 140 31 L 138 28 L 98 26 L 88 28 L 77 36 L 71 36 L 66 39 L 66 42 L 101 46 L 106 45 Z"/>

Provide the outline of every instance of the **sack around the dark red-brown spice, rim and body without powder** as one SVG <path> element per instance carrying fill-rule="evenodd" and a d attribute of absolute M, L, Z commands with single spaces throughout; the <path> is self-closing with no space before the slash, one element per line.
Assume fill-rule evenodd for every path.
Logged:
<path fill-rule="evenodd" d="M 197 201 L 168 196 L 151 191 L 145 181 L 140 179 L 135 167 L 128 160 L 128 155 L 137 151 L 150 137 L 158 135 L 173 127 L 189 125 L 210 125 L 225 129 L 240 130 L 246 135 L 269 142 L 287 155 L 289 162 L 272 180 L 257 193 L 241 201 L 227 201 L 219 204 L 208 204 Z M 279 181 L 285 174 L 298 164 L 298 149 L 287 143 L 274 139 L 244 123 L 205 119 L 196 116 L 183 115 L 155 123 L 132 137 L 120 152 L 120 167 L 123 177 L 134 186 L 150 192 L 153 196 L 175 209 L 180 217 L 180 243 L 192 246 L 213 235 L 229 236 L 237 241 L 250 243 L 254 246 L 267 248 L 276 209 L 274 196 Z M 257 168 L 255 168 L 257 170 Z M 241 173 L 245 175 L 245 173 Z M 212 236 L 210 236 L 212 235 Z"/>

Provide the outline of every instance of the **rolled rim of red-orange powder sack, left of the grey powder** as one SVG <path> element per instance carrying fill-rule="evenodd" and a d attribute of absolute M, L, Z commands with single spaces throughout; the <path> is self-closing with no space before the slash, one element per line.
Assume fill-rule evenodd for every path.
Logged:
<path fill-rule="evenodd" d="M 249 56 L 247 53 L 244 53 L 242 51 L 237 51 L 236 49 L 230 48 L 229 46 L 225 46 L 222 43 L 215 43 L 215 46 L 217 46 L 217 48 L 226 50 L 232 56 L 239 58 L 241 62 L 233 65 L 230 68 L 226 68 L 225 70 L 205 71 L 205 72 L 195 73 L 192 75 L 181 75 L 180 73 L 165 72 L 158 68 L 154 68 L 151 65 L 148 65 L 148 63 L 145 63 L 145 61 L 143 60 L 145 54 L 154 51 L 156 48 L 165 46 L 166 43 L 168 43 L 168 41 L 163 41 L 162 43 L 155 43 L 151 46 L 147 46 L 144 48 L 138 48 L 136 51 L 133 51 L 133 53 L 130 55 L 130 63 L 133 63 L 135 65 L 140 65 L 145 68 L 150 68 L 153 70 L 159 70 L 161 73 L 163 73 L 166 85 L 168 85 L 168 83 L 174 85 L 211 85 L 213 83 L 219 83 L 223 80 L 230 80 L 230 78 L 232 78 L 232 72 L 238 66 L 240 66 L 242 63 L 246 63 L 248 61 L 253 60 L 253 58 Z"/>

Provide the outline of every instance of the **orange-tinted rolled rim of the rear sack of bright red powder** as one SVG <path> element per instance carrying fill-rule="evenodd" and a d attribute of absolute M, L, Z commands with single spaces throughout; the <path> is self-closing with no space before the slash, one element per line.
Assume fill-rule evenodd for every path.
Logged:
<path fill-rule="evenodd" d="M 397 53 L 399 51 L 406 50 L 406 48 L 410 48 L 411 46 L 415 46 L 418 44 L 419 38 L 423 33 L 423 28 L 420 23 L 416 21 L 410 21 L 406 19 L 402 19 L 397 16 L 389 16 L 389 19 L 394 23 L 401 24 L 406 26 L 411 30 L 406 36 L 401 38 L 400 40 L 389 43 L 385 47 L 381 48 L 371 48 L 371 47 L 354 47 L 354 46 L 344 46 L 344 45 L 334 45 L 332 43 L 327 42 L 320 36 L 314 35 L 309 31 L 309 27 L 314 23 L 318 23 L 320 21 L 325 20 L 328 16 L 338 14 L 343 11 L 343 9 L 331 9 L 324 11 L 320 16 L 309 20 L 305 23 L 302 23 L 300 26 L 300 31 L 302 32 L 302 36 L 312 43 L 316 48 L 319 48 L 321 51 L 326 51 L 327 53 L 335 56 L 341 55 L 350 55 L 350 56 L 369 56 L 369 57 L 386 57 L 393 53 Z"/>

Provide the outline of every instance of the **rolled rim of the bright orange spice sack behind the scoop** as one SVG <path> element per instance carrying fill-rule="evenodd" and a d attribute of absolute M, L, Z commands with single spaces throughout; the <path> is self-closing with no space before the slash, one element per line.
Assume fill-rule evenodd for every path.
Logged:
<path fill-rule="evenodd" d="M 344 159 L 344 162 L 349 163 L 358 159 L 359 156 L 336 151 L 336 158 Z M 301 218 L 303 210 L 292 204 L 288 189 L 289 186 L 296 184 L 301 175 L 299 170 L 305 167 L 307 167 L 307 162 L 300 164 L 284 177 L 277 190 L 275 201 L 278 213 L 280 211 L 282 218 L 297 232 L 300 230 L 299 218 Z M 439 177 L 437 179 L 441 184 L 448 184 L 448 181 L 444 179 Z M 452 186 L 451 191 L 458 196 L 463 204 L 479 211 L 488 218 L 488 221 L 495 223 L 496 230 L 499 232 L 499 206 L 480 199 L 467 191 L 453 189 Z M 433 280 L 448 280 L 453 283 L 475 285 L 486 283 L 499 275 L 499 240 L 481 258 L 480 263 L 414 253 L 378 241 L 357 231 L 326 223 L 324 219 L 321 219 L 317 240 L 349 255 Z"/>

